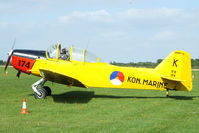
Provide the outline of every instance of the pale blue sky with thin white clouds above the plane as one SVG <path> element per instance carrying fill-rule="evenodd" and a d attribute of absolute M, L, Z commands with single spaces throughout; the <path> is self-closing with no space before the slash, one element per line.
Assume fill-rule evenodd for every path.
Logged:
<path fill-rule="evenodd" d="M 199 58 L 198 0 L 1 0 L 0 60 L 61 43 L 111 62 L 156 62 L 174 50 Z"/>

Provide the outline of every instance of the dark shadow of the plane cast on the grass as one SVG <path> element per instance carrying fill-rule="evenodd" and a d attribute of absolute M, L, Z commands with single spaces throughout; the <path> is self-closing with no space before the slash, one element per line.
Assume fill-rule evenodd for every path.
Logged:
<path fill-rule="evenodd" d="M 170 96 L 176 100 L 193 100 L 196 96 Z M 113 95 L 95 95 L 94 91 L 70 91 L 62 94 L 52 95 L 55 102 L 58 103 L 88 103 L 92 98 L 111 98 L 111 99 L 158 99 L 167 97 L 144 97 L 144 96 L 113 96 Z"/>

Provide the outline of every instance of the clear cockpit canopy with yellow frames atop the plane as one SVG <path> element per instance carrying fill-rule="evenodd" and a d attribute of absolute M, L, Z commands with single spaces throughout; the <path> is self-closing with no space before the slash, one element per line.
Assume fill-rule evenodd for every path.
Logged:
<path fill-rule="evenodd" d="M 64 48 L 66 49 L 66 48 Z M 63 49 L 61 49 L 61 45 L 51 45 L 46 53 L 47 53 L 47 58 L 48 59 L 61 59 L 61 60 L 68 60 L 72 62 L 101 62 L 100 57 L 94 55 L 93 53 L 77 48 L 77 47 L 70 47 L 70 53 L 68 52 L 69 50 L 64 50 L 66 53 L 62 53 Z"/>

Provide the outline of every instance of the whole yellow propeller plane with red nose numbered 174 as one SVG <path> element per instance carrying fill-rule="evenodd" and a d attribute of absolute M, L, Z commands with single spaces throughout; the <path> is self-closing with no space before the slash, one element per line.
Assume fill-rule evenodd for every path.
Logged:
<path fill-rule="evenodd" d="M 61 49 L 60 43 L 47 51 L 20 50 L 9 52 L 5 71 L 12 58 L 12 65 L 21 72 L 41 77 L 32 85 L 36 99 L 51 95 L 46 81 L 78 87 L 125 88 L 191 91 L 191 57 L 185 51 L 176 50 L 156 68 L 119 67 L 101 62 L 100 57 L 85 49 Z M 40 86 L 40 87 L 39 87 Z"/>

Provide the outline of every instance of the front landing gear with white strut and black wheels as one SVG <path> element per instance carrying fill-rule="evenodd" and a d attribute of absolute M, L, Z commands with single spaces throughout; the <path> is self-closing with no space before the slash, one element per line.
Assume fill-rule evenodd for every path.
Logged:
<path fill-rule="evenodd" d="M 45 82 L 46 80 L 42 78 L 32 85 L 32 89 L 34 91 L 34 97 L 36 99 L 44 99 L 46 96 L 51 95 L 50 87 L 44 86 Z M 39 85 L 40 88 L 38 88 Z"/>

